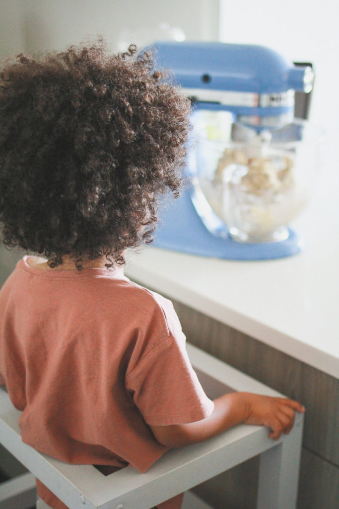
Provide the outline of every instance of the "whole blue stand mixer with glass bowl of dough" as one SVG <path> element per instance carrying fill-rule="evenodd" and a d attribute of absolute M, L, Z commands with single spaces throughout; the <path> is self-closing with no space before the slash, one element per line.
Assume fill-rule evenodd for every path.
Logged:
<path fill-rule="evenodd" d="M 302 242 L 288 225 L 304 209 L 317 168 L 318 134 L 294 119 L 295 92 L 310 93 L 311 66 L 256 45 L 159 42 L 192 101 L 192 185 L 161 210 L 155 245 L 203 256 L 291 256 Z"/>

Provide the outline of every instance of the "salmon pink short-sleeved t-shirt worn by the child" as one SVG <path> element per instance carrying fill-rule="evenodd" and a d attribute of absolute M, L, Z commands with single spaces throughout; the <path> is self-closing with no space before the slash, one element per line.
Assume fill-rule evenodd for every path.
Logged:
<path fill-rule="evenodd" d="M 0 292 L 0 373 L 23 442 L 67 463 L 145 472 L 168 449 L 148 425 L 213 410 L 171 302 L 113 270 L 40 270 L 27 258 Z M 38 493 L 66 507 L 39 482 Z"/>

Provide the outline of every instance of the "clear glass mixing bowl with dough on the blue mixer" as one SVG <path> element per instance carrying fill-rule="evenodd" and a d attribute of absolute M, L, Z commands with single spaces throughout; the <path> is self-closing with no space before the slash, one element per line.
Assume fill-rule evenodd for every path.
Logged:
<path fill-rule="evenodd" d="M 218 129 L 200 114 L 193 186 L 240 242 L 275 242 L 309 203 L 319 164 L 319 136 L 307 122 L 258 132 Z M 208 121 L 209 119 L 209 121 Z M 199 213 L 199 207 L 197 208 Z M 212 232 L 215 233 L 215 232 Z"/>

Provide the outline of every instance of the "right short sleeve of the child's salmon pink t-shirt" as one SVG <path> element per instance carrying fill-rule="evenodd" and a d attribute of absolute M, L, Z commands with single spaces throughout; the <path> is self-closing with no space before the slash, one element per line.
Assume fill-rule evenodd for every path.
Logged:
<path fill-rule="evenodd" d="M 182 332 L 179 337 L 168 336 L 126 376 L 127 389 L 148 425 L 195 422 L 213 411 L 184 343 Z"/>

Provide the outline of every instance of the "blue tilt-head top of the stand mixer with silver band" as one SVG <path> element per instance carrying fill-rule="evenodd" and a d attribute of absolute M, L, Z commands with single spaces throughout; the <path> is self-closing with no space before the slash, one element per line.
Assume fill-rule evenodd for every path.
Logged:
<path fill-rule="evenodd" d="M 311 66 L 294 65 L 257 45 L 158 42 L 157 65 L 170 69 L 194 109 L 226 110 L 237 123 L 275 129 L 294 118 L 295 92 L 313 88 Z"/>

